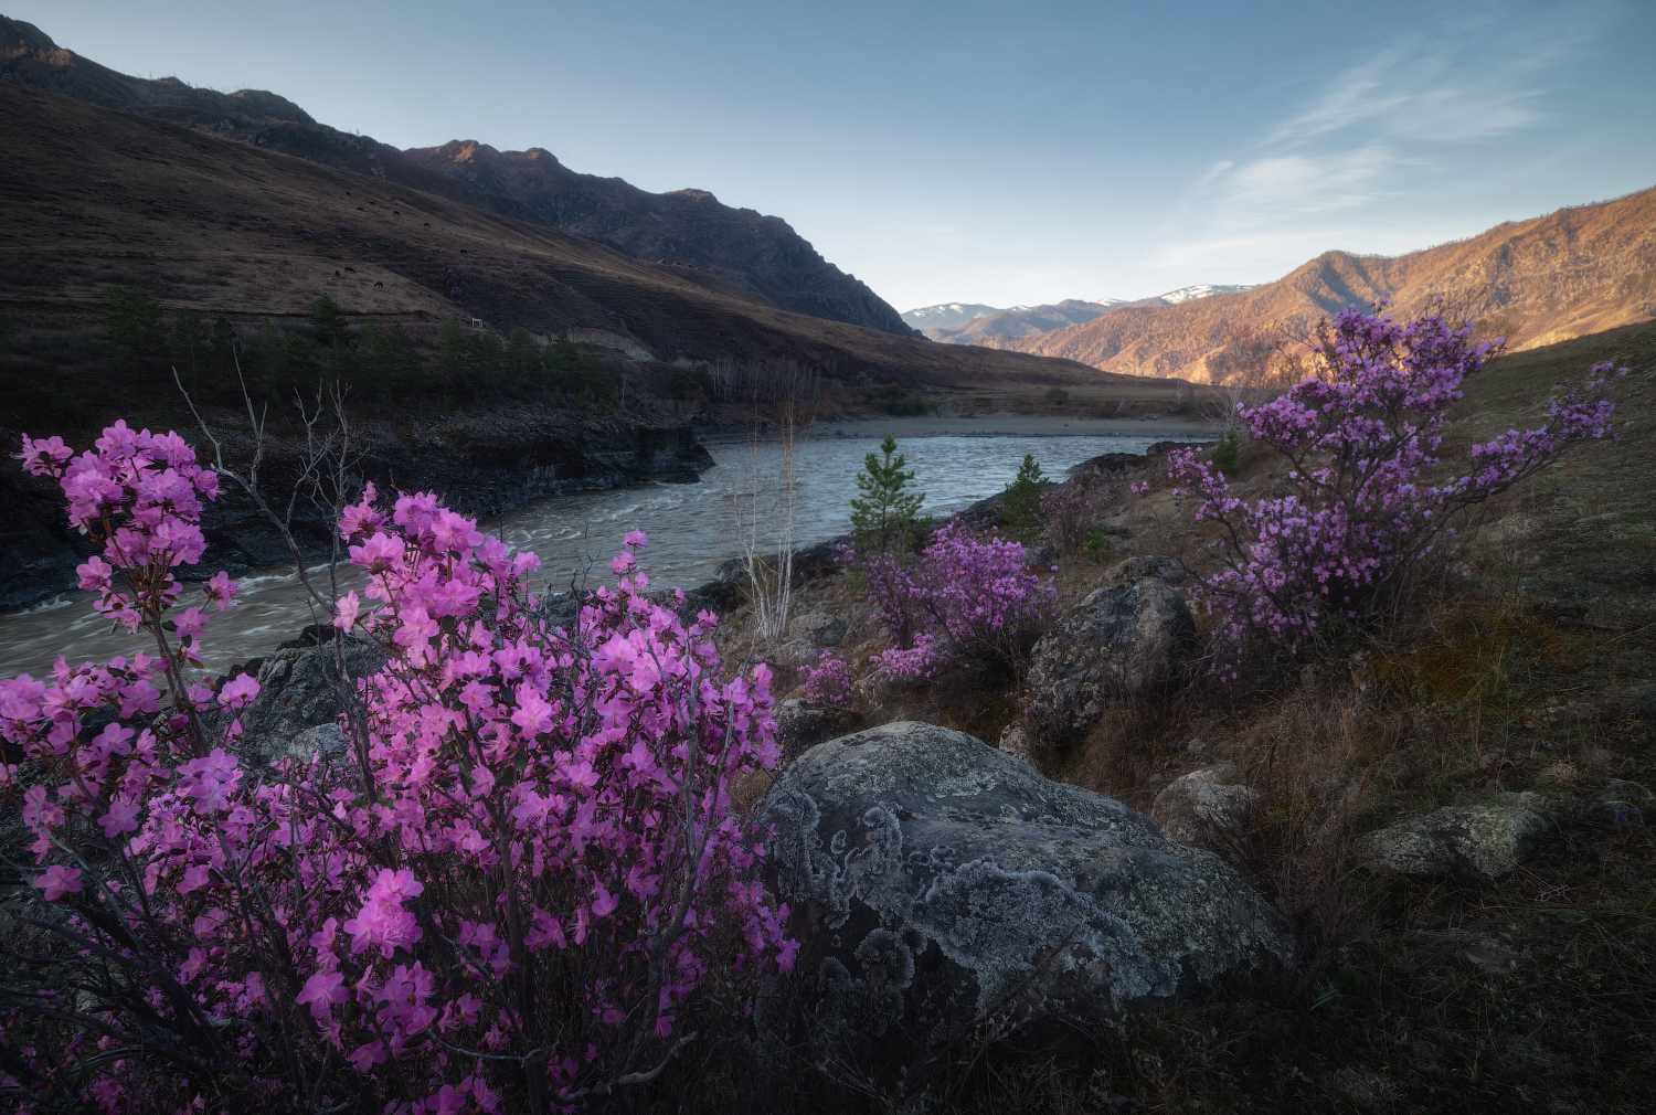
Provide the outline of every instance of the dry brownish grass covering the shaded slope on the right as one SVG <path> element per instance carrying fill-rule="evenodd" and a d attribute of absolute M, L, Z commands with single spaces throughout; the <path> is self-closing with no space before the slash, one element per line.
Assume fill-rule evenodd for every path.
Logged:
<path fill-rule="evenodd" d="M 1042 1050 L 936 1065 L 932 1110 L 1649 1110 L 1656 800 L 1620 822 L 1605 802 L 1611 779 L 1656 789 L 1656 325 L 1497 361 L 1446 456 L 1532 419 L 1533 399 L 1596 360 L 1636 369 L 1623 439 L 1482 509 L 1366 654 L 1277 666 L 1247 689 L 1197 674 L 1038 757 L 1141 810 L 1181 774 L 1235 765 L 1260 799 L 1222 855 L 1295 924 L 1297 968 Z M 1237 479 L 1268 490 L 1257 446 Z M 1154 484 L 1124 502 L 1113 557 L 1201 560 L 1184 510 Z M 1101 573 L 1061 565 L 1071 601 Z M 974 712 L 970 696 L 937 689 L 891 707 L 999 726 L 992 694 L 975 699 Z M 1542 852 L 1504 880 L 1378 878 L 1353 862 L 1365 832 L 1502 792 L 1540 794 L 1552 820 Z"/>

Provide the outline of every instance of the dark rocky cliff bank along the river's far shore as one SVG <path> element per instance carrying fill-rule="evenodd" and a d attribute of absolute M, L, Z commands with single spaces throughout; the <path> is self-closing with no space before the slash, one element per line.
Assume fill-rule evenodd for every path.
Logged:
<path fill-rule="evenodd" d="M 359 432 L 363 456 L 354 469 L 359 480 L 373 480 L 388 494 L 434 490 L 447 505 L 477 519 L 563 492 L 691 482 L 714 464 L 691 427 L 631 418 L 482 414 L 401 427 L 369 424 Z M 18 434 L 0 431 L 0 439 L 17 446 Z M 245 439 L 227 442 L 232 464 L 250 449 Z M 267 499 L 285 505 L 300 474 L 298 451 L 267 446 L 260 472 Z M 0 608 L 26 608 L 73 588 L 75 567 L 93 547 L 68 525 L 56 484 L 5 461 L 0 504 L 8 512 L 0 519 Z M 293 519 L 306 553 L 326 553 L 333 538 L 328 517 L 298 507 Z M 282 535 L 233 484 L 227 482 L 219 500 L 207 507 L 202 530 L 207 555 L 190 572 L 224 568 L 240 575 L 291 560 Z"/>

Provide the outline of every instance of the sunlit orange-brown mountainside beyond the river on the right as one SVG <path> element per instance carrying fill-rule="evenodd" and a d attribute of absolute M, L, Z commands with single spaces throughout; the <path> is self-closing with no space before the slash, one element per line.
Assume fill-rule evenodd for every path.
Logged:
<path fill-rule="evenodd" d="M 1656 316 L 1656 189 L 1408 255 L 1325 252 L 1240 293 L 1121 307 L 1085 325 L 1028 338 L 987 335 L 979 343 L 1201 381 L 1237 326 L 1280 323 L 1303 331 L 1350 303 L 1384 298 L 1413 311 L 1437 295 L 1469 307 L 1514 351 Z"/>

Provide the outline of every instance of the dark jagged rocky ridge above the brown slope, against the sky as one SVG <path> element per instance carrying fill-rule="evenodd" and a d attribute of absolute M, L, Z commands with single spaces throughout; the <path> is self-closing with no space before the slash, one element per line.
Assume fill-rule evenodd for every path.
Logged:
<path fill-rule="evenodd" d="M 785 220 L 722 205 L 704 191 L 649 194 L 619 179 L 576 174 L 538 147 L 498 152 L 467 141 L 399 151 L 321 124 L 273 93 L 227 94 L 177 78 L 151 81 L 116 73 L 60 48 L 40 28 L 5 17 L 0 78 L 550 224 L 634 258 L 710 270 L 730 288 L 780 310 L 912 335 L 893 307 L 825 260 Z"/>

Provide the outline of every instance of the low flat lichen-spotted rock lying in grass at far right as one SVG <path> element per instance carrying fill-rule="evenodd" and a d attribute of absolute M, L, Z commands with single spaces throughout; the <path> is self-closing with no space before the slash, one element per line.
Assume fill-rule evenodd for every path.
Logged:
<path fill-rule="evenodd" d="M 1547 818 L 1527 805 L 1449 805 L 1365 835 L 1356 857 L 1379 875 L 1500 878 L 1535 853 L 1545 832 Z"/>

